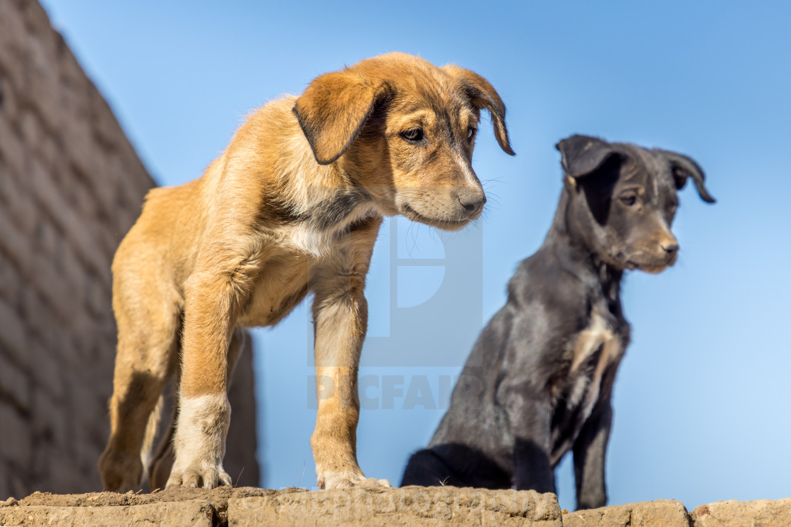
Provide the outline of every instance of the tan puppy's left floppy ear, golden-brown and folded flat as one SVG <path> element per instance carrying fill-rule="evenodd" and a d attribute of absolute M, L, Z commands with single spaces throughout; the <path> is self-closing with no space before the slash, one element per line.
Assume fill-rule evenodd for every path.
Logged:
<path fill-rule="evenodd" d="M 358 77 L 346 69 L 316 77 L 293 112 L 319 164 L 331 164 L 360 134 L 377 102 L 391 95 L 384 81 Z"/>

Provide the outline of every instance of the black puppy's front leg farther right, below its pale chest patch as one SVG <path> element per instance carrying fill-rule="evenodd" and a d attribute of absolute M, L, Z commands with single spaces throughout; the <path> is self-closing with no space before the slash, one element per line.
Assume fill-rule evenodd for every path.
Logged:
<path fill-rule="evenodd" d="M 600 401 L 574 442 L 574 480 L 577 484 L 577 510 L 596 509 L 607 504 L 604 482 L 604 456 L 612 426 L 612 405 Z"/>

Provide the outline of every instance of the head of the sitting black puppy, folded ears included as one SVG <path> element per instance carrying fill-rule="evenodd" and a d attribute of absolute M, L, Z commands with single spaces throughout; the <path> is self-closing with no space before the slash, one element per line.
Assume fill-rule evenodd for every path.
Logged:
<path fill-rule="evenodd" d="M 567 222 L 618 269 L 659 273 L 676 262 L 679 244 L 670 226 L 679 205 L 676 191 L 687 179 L 703 201 L 714 202 L 703 171 L 687 156 L 581 135 L 556 146 L 571 194 Z"/>

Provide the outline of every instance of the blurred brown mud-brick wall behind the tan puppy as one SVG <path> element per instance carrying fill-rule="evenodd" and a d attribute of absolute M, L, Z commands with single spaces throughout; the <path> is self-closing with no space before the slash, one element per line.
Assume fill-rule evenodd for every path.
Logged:
<path fill-rule="evenodd" d="M 0 0 L 0 496 L 100 489 L 110 265 L 153 185 L 44 9 Z M 241 484 L 259 476 L 250 357 L 228 446 Z"/>

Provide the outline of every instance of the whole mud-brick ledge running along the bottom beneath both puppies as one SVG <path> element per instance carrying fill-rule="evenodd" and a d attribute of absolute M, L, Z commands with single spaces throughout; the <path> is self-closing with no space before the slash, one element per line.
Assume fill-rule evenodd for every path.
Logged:
<path fill-rule="evenodd" d="M 0 502 L 0 525 L 791 525 L 791 499 L 717 502 L 691 513 L 673 500 L 566 513 L 554 494 L 455 487 L 272 491 L 174 489 L 53 495 Z"/>

